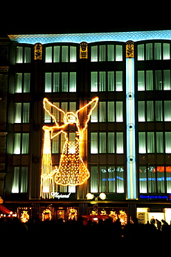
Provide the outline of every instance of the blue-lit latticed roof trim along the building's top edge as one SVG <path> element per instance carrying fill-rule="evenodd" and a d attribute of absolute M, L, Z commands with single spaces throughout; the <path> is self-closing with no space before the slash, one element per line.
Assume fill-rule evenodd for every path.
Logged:
<path fill-rule="evenodd" d="M 26 43 L 49 44 L 55 42 L 102 42 L 102 41 L 118 41 L 134 42 L 141 40 L 171 40 L 171 30 L 163 31 L 125 31 L 125 32 L 109 32 L 109 33 L 68 33 L 68 34 L 22 34 L 8 35 L 10 40 Z"/>

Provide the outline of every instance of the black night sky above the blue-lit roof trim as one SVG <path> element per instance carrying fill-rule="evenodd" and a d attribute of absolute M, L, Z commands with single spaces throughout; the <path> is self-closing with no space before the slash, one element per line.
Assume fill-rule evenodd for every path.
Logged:
<path fill-rule="evenodd" d="M 113 3 L 110 6 L 101 2 L 55 2 L 43 6 L 34 5 L 19 8 L 8 6 L 8 11 L 0 17 L 0 33 L 89 33 L 115 31 L 145 31 L 171 29 L 170 13 L 167 7 L 125 6 Z M 16 3 L 15 3 L 16 4 Z M 125 2 L 125 4 L 128 4 Z M 147 3 L 146 3 L 147 4 Z M 18 9 L 18 10 L 17 10 Z M 1 9 L 3 10 L 3 9 Z M 89 11 L 88 11 L 89 10 Z M 163 12 L 164 10 L 164 12 Z M 170 11 L 170 8 L 168 8 Z M 2 12 L 3 13 L 3 12 Z"/>

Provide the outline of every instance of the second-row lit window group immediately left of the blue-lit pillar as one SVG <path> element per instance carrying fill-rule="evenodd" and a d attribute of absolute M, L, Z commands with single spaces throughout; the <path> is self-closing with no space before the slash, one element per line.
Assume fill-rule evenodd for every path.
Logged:
<path fill-rule="evenodd" d="M 91 92 L 123 91 L 123 72 L 91 72 Z"/>

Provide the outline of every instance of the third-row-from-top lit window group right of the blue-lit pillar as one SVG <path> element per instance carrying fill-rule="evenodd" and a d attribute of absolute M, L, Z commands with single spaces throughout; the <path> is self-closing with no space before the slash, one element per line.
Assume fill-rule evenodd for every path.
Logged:
<path fill-rule="evenodd" d="M 138 101 L 138 122 L 171 122 L 171 101 Z"/>

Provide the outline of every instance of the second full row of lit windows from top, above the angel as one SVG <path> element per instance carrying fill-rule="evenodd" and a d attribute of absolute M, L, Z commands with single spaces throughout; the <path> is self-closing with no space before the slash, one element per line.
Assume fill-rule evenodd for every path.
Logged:
<path fill-rule="evenodd" d="M 138 71 L 138 91 L 171 90 L 170 69 Z M 76 92 L 76 72 L 46 72 L 45 92 Z M 123 91 L 123 72 L 91 72 L 91 92 Z M 30 92 L 30 73 L 17 73 L 15 92 Z"/>

